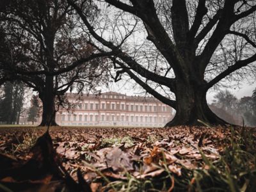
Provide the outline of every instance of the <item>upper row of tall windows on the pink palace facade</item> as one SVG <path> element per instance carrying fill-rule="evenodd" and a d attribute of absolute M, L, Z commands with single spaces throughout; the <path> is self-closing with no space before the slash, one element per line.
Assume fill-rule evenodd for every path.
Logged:
<path fill-rule="evenodd" d="M 90 107 L 90 108 L 89 108 Z M 101 107 L 101 108 L 99 108 Z M 98 103 L 96 104 L 93 104 L 91 103 L 90 106 L 88 105 L 88 103 L 84 103 L 84 106 L 83 104 L 79 103 L 78 104 L 78 108 L 79 109 L 85 109 L 85 110 L 88 110 L 88 109 L 91 109 L 91 110 L 99 110 L 99 109 L 112 109 L 112 110 L 126 110 L 126 111 L 149 111 L 149 112 L 166 112 L 166 106 L 147 106 L 147 105 L 132 105 L 132 104 L 105 104 L 105 103 L 102 103 L 101 106 L 99 106 Z"/>

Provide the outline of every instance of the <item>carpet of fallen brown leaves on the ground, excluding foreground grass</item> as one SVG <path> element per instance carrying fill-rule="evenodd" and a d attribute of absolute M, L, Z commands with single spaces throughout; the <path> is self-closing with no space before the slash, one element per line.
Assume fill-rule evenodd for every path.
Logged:
<path fill-rule="evenodd" d="M 209 169 L 204 157 L 220 159 L 232 137 L 228 127 L 186 126 L 51 127 L 50 132 L 1 127 L 0 132 L 0 191 L 115 191 L 108 184 L 131 177 L 161 182 L 166 173 L 182 177 L 188 170 Z M 173 178 L 168 191 L 175 188 Z"/>

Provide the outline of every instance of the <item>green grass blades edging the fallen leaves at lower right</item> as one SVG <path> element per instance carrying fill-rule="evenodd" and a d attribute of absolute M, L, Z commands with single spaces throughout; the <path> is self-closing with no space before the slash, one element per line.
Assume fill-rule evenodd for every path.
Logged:
<path fill-rule="evenodd" d="M 157 177 L 138 179 L 129 172 L 125 173 L 127 180 L 110 181 L 103 177 L 104 191 L 255 191 L 255 136 L 250 131 L 242 130 L 235 138 L 234 129 L 231 132 L 231 137 L 225 141 L 228 145 L 217 161 L 207 159 L 199 148 L 204 169 L 188 170 L 183 167 L 182 175 L 178 176 L 170 172 L 163 160 L 159 164 L 164 172 Z M 120 142 L 108 140 L 109 143 L 115 141 Z"/>

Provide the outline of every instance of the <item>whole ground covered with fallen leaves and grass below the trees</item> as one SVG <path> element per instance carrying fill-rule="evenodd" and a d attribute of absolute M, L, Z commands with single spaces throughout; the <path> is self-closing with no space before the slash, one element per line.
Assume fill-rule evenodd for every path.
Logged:
<path fill-rule="evenodd" d="M 49 134 L 46 131 L 46 127 L 0 127 L 0 191 L 256 188 L 255 128 L 50 127 Z"/>

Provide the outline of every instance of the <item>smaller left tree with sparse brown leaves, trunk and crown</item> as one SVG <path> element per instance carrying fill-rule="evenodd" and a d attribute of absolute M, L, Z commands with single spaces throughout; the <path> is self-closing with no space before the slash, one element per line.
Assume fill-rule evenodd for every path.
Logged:
<path fill-rule="evenodd" d="M 92 8 L 91 19 L 93 14 Z M 61 104 L 67 90 L 75 86 L 81 92 L 106 77 L 99 56 L 108 54 L 97 53 L 86 43 L 66 1 L 9 1 L 0 17 L 5 45 L 1 47 L 0 82 L 17 79 L 38 92 L 43 104 L 40 125 L 56 125 L 56 99 Z"/>

